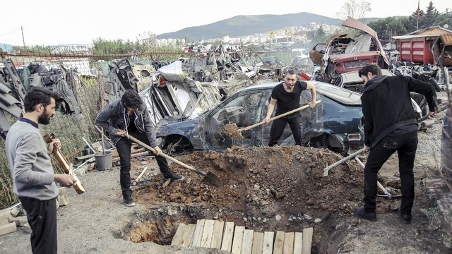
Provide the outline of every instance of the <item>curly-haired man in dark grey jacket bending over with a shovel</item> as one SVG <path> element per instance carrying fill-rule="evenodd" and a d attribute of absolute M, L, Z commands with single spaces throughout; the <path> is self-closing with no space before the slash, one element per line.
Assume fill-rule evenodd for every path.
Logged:
<path fill-rule="evenodd" d="M 141 140 L 150 145 L 157 152 L 155 159 L 163 174 L 163 179 L 178 181 L 184 179 L 180 174 L 174 174 L 169 170 L 167 160 L 160 156 L 162 150 L 158 147 L 155 139 L 155 130 L 149 119 L 148 109 L 140 95 L 133 90 L 126 90 L 121 99 L 116 99 L 105 107 L 97 116 L 95 123 L 109 133 L 116 146 L 119 162 L 121 163 L 119 181 L 121 183 L 124 205 L 131 207 L 135 205 L 130 188 L 130 159 L 132 141 L 127 135 Z"/>

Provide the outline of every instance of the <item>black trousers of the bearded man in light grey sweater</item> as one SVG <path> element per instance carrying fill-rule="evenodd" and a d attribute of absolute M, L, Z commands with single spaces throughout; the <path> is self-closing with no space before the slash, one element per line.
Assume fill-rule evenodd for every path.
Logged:
<path fill-rule="evenodd" d="M 33 254 L 57 253 L 57 201 L 19 197 L 32 229 L 30 242 Z"/>

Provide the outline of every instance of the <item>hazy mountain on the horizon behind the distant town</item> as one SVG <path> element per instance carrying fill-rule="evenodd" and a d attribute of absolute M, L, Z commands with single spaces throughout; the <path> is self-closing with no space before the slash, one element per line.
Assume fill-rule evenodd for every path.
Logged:
<path fill-rule="evenodd" d="M 292 26 L 309 25 L 309 23 L 340 25 L 343 20 L 328 18 L 313 13 L 291 13 L 283 15 L 234 16 L 208 25 L 184 28 L 176 32 L 157 35 L 157 39 L 209 40 L 225 36 L 239 37 L 256 33 L 270 32 Z"/>

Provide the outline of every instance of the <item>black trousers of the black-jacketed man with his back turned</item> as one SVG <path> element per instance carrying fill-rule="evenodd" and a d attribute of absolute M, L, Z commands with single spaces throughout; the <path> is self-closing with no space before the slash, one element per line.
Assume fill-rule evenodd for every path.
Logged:
<path fill-rule="evenodd" d="M 402 201 L 400 212 L 411 214 L 412 203 L 415 200 L 415 177 L 412 172 L 417 150 L 417 131 L 397 135 L 389 134 L 373 147 L 367 157 L 364 167 L 364 208 L 374 212 L 376 208 L 377 175 L 384 162 L 397 151 L 398 171 L 402 185 Z"/>

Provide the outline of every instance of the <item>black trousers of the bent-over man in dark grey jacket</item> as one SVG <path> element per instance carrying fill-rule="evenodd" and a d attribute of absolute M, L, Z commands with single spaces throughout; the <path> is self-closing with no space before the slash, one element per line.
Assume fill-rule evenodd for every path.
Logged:
<path fill-rule="evenodd" d="M 145 143 L 146 145 L 150 145 L 148 136 L 146 136 L 145 133 L 129 133 L 129 134 L 137 138 L 138 140 L 141 140 L 141 142 Z M 132 194 L 130 188 L 131 185 L 130 158 L 132 143 L 133 142 L 127 139 L 126 137 L 120 138 L 119 141 L 116 143 L 116 149 L 119 155 L 119 163 L 121 164 L 121 170 L 119 173 L 120 174 L 119 182 L 121 183 L 121 191 L 124 197 L 130 196 Z M 151 154 L 153 153 L 151 152 Z M 165 157 L 162 157 L 160 155 L 155 156 L 155 160 L 157 160 L 160 172 L 162 172 L 163 176 L 167 176 L 167 174 L 169 173 L 169 167 Z"/>

